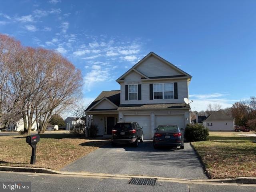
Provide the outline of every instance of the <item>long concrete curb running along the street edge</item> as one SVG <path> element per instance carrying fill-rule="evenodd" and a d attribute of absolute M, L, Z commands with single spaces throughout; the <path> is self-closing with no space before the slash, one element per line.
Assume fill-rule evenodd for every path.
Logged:
<path fill-rule="evenodd" d="M 58 174 L 65 176 L 87 176 L 87 177 L 100 177 L 100 178 L 156 178 L 166 182 L 184 182 L 184 183 L 237 183 L 237 184 L 256 184 L 256 177 L 236 177 L 226 179 L 182 179 L 182 178 L 166 178 L 158 176 L 137 176 L 137 175 L 115 175 L 115 174 L 102 174 L 90 172 L 65 172 L 57 171 L 47 168 L 34 168 L 34 167 L 11 167 L 0 166 L 0 171 L 7 172 L 26 172 L 26 173 L 43 173 L 43 174 Z"/>

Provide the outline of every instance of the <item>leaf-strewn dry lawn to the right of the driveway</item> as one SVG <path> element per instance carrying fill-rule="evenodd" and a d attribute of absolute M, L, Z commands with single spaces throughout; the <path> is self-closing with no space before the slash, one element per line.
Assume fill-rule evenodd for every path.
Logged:
<path fill-rule="evenodd" d="M 256 177 L 256 138 L 237 134 L 210 132 L 210 141 L 192 142 L 210 178 Z"/>

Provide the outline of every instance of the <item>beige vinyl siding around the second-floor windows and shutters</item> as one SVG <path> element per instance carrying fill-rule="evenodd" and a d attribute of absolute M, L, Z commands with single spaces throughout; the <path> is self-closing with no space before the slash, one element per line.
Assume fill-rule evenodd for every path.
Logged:
<path fill-rule="evenodd" d="M 178 84 L 178 99 L 149 99 L 149 84 L 150 83 L 168 83 L 177 82 Z M 166 81 L 152 81 L 152 82 L 141 82 L 141 100 L 125 100 L 125 85 L 121 84 L 121 104 L 154 104 L 154 103 L 183 103 L 183 98 L 188 98 L 188 83 L 187 80 L 166 80 Z M 140 82 L 139 82 L 140 83 Z"/>

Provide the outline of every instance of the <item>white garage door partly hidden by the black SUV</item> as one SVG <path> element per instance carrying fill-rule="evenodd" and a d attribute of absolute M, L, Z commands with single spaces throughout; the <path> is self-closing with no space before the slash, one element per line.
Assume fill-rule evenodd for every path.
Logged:
<path fill-rule="evenodd" d="M 151 131 L 150 131 L 150 116 L 149 115 L 126 115 L 124 116 L 124 121 L 134 121 L 142 126 L 144 139 L 151 139 Z"/>

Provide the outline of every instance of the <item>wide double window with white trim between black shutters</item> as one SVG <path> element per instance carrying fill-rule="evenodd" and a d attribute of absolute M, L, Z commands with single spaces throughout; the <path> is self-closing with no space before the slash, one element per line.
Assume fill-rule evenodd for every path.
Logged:
<path fill-rule="evenodd" d="M 153 84 L 154 99 L 173 99 L 174 86 L 173 83 L 158 83 Z"/>

